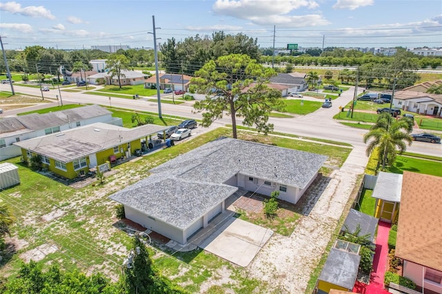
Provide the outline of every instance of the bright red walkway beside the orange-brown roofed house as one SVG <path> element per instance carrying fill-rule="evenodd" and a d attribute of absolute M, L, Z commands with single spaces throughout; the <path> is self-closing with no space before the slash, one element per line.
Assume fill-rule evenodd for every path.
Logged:
<path fill-rule="evenodd" d="M 388 234 L 391 224 L 379 222 L 378 235 L 376 235 L 376 250 L 374 252 L 373 271 L 370 275 L 370 284 L 357 282 L 354 284 L 353 292 L 364 294 L 388 294 L 384 289 L 384 275 L 387 269 L 388 257 Z"/>

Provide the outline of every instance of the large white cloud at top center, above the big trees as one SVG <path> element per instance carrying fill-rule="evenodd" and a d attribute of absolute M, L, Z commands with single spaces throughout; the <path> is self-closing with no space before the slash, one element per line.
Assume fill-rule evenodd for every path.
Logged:
<path fill-rule="evenodd" d="M 256 25 L 280 24 L 300 27 L 307 24 L 308 26 L 322 26 L 329 23 L 320 14 L 289 15 L 292 10 L 300 8 L 318 8 L 318 3 L 312 0 L 217 0 L 212 6 L 215 14 L 246 19 Z"/>

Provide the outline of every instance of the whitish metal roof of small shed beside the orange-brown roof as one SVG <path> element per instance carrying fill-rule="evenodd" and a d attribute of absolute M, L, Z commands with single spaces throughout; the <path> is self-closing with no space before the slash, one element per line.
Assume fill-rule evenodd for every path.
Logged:
<path fill-rule="evenodd" d="M 372 197 L 390 202 L 401 202 L 402 177 L 397 173 L 379 172 Z"/>

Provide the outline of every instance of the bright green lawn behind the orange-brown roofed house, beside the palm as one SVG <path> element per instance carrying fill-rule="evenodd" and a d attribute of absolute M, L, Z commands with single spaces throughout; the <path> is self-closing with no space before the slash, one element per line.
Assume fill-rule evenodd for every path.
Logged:
<path fill-rule="evenodd" d="M 387 168 L 387 172 L 389 173 L 403 173 L 404 170 L 442 177 L 442 161 L 398 155 L 394 166 Z"/>

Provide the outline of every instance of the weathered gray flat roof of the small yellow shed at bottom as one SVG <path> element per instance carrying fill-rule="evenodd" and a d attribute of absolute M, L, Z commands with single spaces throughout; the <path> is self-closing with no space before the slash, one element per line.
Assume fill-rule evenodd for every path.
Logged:
<path fill-rule="evenodd" d="M 352 289 L 358 275 L 361 256 L 332 248 L 318 280 Z"/>

